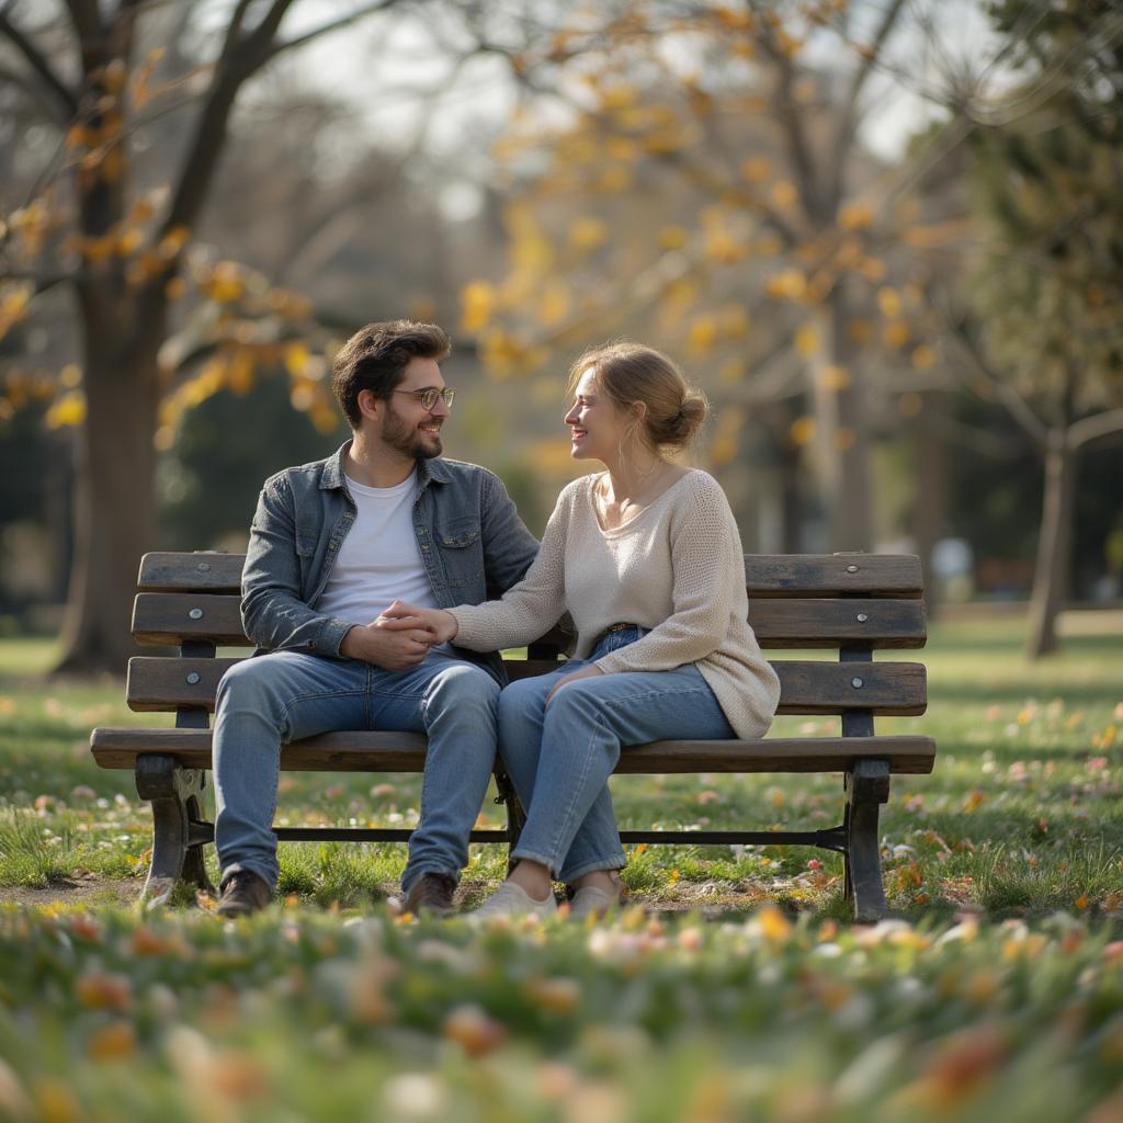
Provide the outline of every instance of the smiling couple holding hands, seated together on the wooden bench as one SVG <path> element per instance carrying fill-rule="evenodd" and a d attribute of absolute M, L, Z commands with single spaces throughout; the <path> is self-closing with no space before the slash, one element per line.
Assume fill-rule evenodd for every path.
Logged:
<path fill-rule="evenodd" d="M 404 909 L 453 911 L 468 836 L 502 758 L 527 812 L 512 871 L 477 914 L 573 915 L 620 898 L 626 858 L 608 788 L 622 748 L 757 738 L 779 699 L 749 627 L 740 536 L 720 485 L 664 457 L 706 416 L 664 355 L 586 353 L 570 374 L 570 455 L 602 462 L 535 541 L 503 484 L 441 458 L 454 391 L 445 332 L 357 332 L 334 384 L 351 439 L 266 481 L 243 573 L 258 658 L 223 677 L 213 731 L 219 913 L 264 907 L 281 745 L 330 730 L 428 737 Z M 487 590 L 503 592 L 489 601 Z M 505 685 L 497 651 L 563 614 L 574 657 Z"/>

